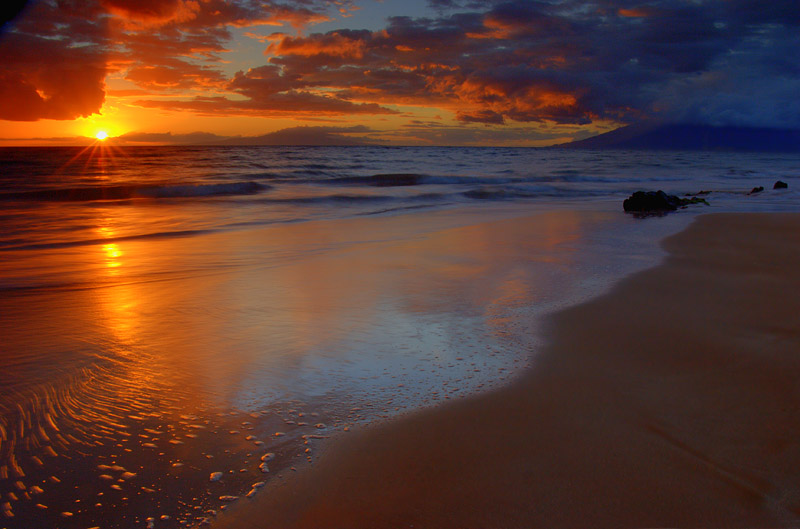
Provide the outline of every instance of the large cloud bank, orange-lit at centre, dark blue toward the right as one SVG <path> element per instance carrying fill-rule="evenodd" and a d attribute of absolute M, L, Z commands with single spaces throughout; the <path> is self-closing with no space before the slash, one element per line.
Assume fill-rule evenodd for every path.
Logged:
<path fill-rule="evenodd" d="M 770 34 L 794 42 L 796 2 L 763 10 L 751 0 L 432 5 L 438 17 L 393 17 L 381 31 L 275 35 L 269 65 L 283 85 L 346 100 L 437 106 L 464 123 L 631 122 L 671 113 L 800 126 L 793 113 L 769 110 L 795 105 L 790 94 L 800 69 L 786 58 L 796 54 Z M 758 65 L 741 56 L 753 45 Z M 759 78 L 748 79 L 747 71 Z M 730 96 L 714 99 L 710 78 L 717 80 L 713 90 Z"/>

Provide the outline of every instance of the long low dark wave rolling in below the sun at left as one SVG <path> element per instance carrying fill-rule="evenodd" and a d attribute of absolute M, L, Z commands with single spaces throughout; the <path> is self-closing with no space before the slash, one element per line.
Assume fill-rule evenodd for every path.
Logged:
<path fill-rule="evenodd" d="M 0 193 L 0 201 L 92 202 L 134 198 L 193 198 L 253 195 L 271 186 L 258 182 L 232 182 L 196 185 L 121 185 L 85 186 Z"/>

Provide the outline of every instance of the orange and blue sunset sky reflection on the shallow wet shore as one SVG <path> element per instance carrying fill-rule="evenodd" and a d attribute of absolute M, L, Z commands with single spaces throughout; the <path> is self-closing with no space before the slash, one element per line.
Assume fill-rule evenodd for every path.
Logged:
<path fill-rule="evenodd" d="M 129 240 L 119 239 L 125 215 L 99 222 L 108 242 L 52 253 L 54 268 L 63 259 L 89 271 L 85 287 L 41 294 L 21 322 L 47 329 L 54 344 L 39 361 L 61 365 L 64 351 L 80 369 L 3 403 L 9 480 L 38 483 L 55 516 L 83 493 L 106 495 L 99 506 L 63 507 L 76 526 L 156 497 L 205 494 L 197 487 L 210 472 L 237 466 L 246 472 L 226 474 L 217 496 L 247 492 L 262 471 L 246 453 L 314 437 L 306 430 L 318 420 L 282 402 L 310 399 L 341 426 L 501 382 L 529 350 L 516 311 L 569 277 L 571 244 L 594 222 L 566 212 L 490 224 L 433 215 Z M 237 408 L 256 412 L 252 432 L 225 426 L 241 422 L 226 415 Z M 228 430 L 237 434 L 220 434 Z M 76 476 L 94 485 L 55 487 Z M 176 478 L 194 485 L 175 492 Z M 12 510 L 44 520 L 32 505 Z"/>

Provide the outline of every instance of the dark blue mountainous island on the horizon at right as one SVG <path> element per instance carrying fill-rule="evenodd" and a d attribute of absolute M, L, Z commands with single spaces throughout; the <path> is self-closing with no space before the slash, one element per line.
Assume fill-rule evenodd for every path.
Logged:
<path fill-rule="evenodd" d="M 715 127 L 693 124 L 637 124 L 585 140 L 565 149 L 800 152 L 800 130 Z"/>

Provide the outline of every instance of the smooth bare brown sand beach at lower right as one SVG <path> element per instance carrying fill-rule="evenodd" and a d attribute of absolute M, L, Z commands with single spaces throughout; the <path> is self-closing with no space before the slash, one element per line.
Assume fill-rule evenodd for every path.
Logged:
<path fill-rule="evenodd" d="M 513 385 L 343 434 L 215 527 L 796 526 L 800 215 L 664 244 Z"/>

